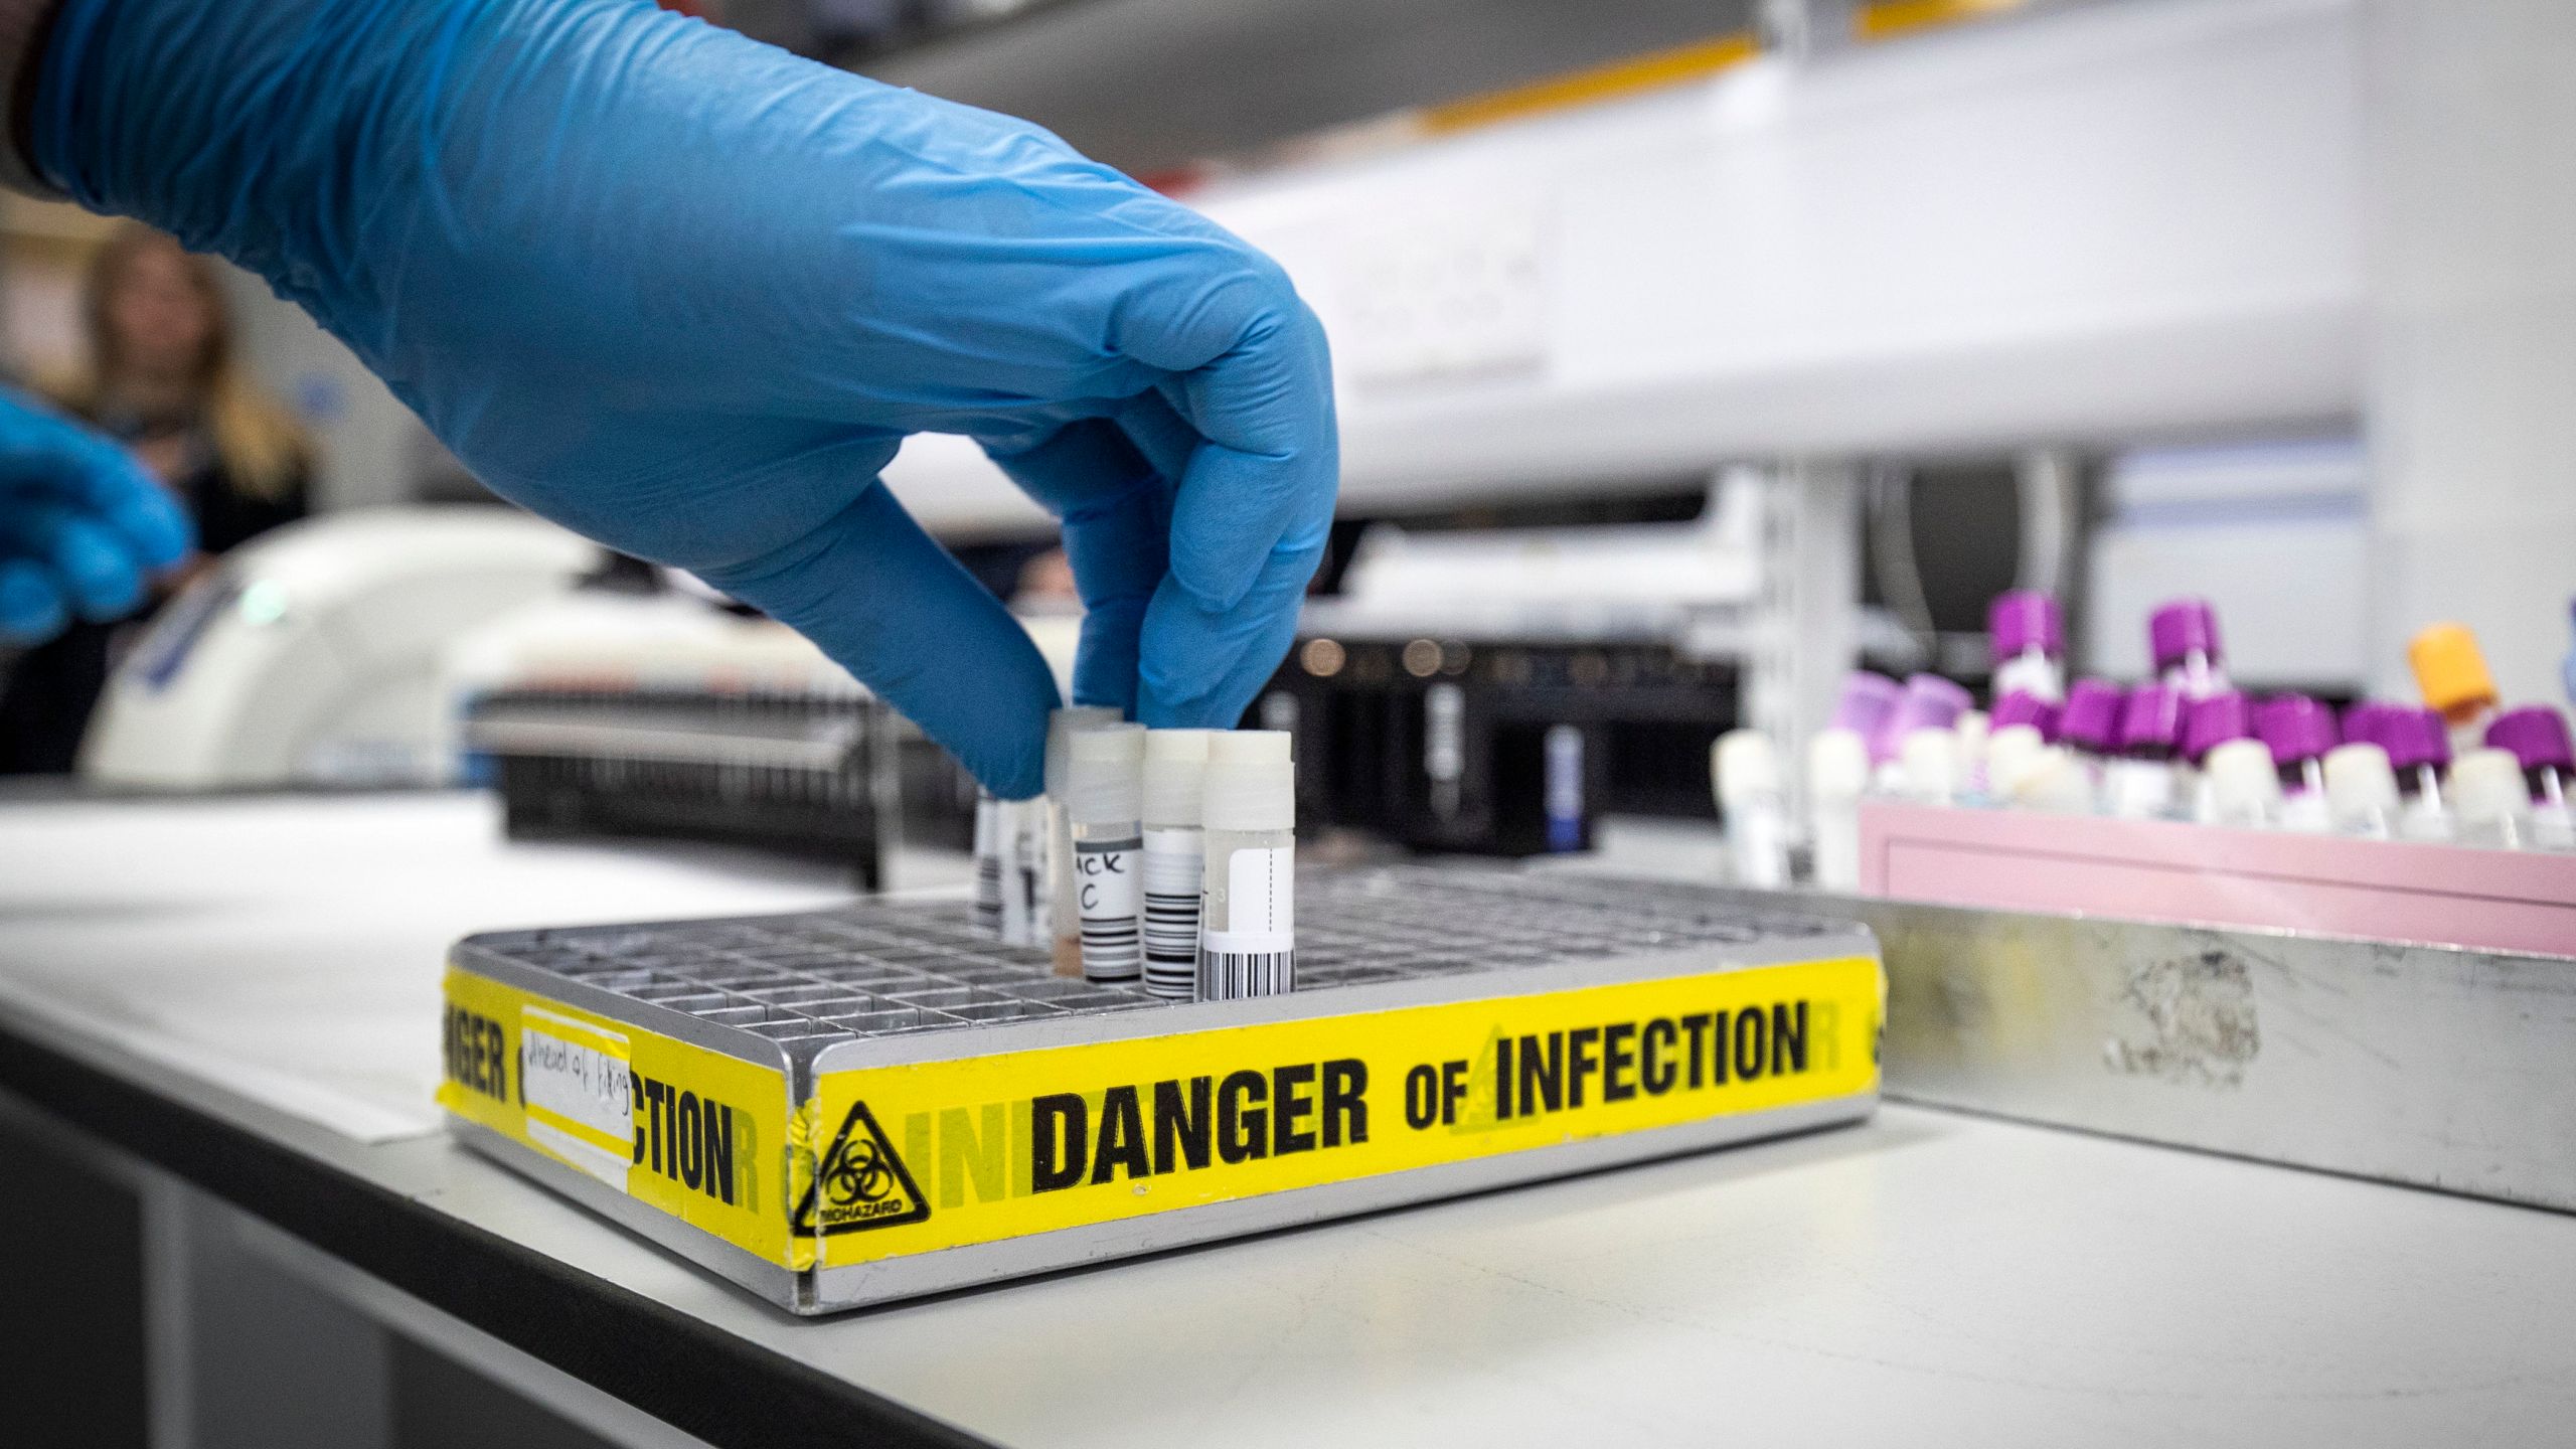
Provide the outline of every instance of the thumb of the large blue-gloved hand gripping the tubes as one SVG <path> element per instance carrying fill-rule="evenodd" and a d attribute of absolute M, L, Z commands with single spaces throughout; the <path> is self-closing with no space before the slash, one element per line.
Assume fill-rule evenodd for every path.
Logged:
<path fill-rule="evenodd" d="M 1043 789 L 1046 660 L 884 485 L 809 536 L 703 578 L 814 639 L 994 794 Z"/>

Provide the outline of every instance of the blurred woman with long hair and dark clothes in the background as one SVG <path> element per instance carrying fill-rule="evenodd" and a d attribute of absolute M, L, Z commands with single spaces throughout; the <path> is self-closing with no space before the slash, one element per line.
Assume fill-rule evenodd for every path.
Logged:
<path fill-rule="evenodd" d="M 116 438 L 196 523 L 167 598 L 206 565 L 307 513 L 312 438 L 232 356 L 214 263 L 149 227 L 118 227 L 82 294 L 90 361 L 44 392 Z M 75 621 L 0 683 L 0 773 L 70 773 L 129 624 Z"/>

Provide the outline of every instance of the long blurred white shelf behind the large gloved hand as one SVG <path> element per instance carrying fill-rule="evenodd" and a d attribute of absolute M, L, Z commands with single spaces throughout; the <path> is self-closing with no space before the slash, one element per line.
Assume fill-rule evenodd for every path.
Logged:
<path fill-rule="evenodd" d="M 2136 0 L 1203 196 L 1334 335 L 1345 505 L 2360 407 L 2347 0 Z M 971 446 L 940 531 L 1036 511 Z"/>

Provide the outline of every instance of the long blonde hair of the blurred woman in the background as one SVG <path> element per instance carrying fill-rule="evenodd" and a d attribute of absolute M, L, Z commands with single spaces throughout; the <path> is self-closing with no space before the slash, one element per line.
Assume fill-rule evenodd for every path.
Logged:
<path fill-rule="evenodd" d="M 198 358 L 196 387 L 198 415 L 206 423 L 214 456 L 224 464 L 240 492 L 263 503 L 278 503 L 312 472 L 312 433 L 234 361 L 232 307 L 224 304 L 214 263 L 183 250 L 178 240 L 162 232 L 129 222 L 116 227 L 90 258 L 80 299 L 82 322 L 90 330 L 90 358 L 67 376 L 52 379 L 46 392 L 72 413 L 95 418 L 108 379 L 124 366 L 124 358 L 116 356 L 116 327 L 108 325 L 108 304 L 116 299 L 116 289 L 124 284 L 124 273 L 134 266 L 134 258 L 157 248 L 173 250 L 185 263 L 188 278 L 196 284 L 196 297 L 206 307 L 206 356 Z"/>

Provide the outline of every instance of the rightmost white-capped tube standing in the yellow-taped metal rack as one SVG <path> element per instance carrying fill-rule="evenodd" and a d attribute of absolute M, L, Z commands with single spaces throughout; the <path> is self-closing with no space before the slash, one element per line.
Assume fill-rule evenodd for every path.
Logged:
<path fill-rule="evenodd" d="M 1208 740 L 1198 998 L 1296 990 L 1296 763 L 1283 730 Z"/>

